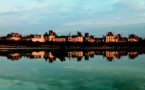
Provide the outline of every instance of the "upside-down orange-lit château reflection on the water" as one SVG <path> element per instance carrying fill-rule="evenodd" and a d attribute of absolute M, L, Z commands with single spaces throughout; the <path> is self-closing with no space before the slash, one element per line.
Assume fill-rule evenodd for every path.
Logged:
<path fill-rule="evenodd" d="M 89 60 L 97 56 L 106 58 L 107 61 L 114 61 L 116 59 L 122 59 L 128 57 L 133 60 L 139 55 L 145 54 L 141 51 L 103 51 L 103 50 L 0 50 L 0 56 L 5 56 L 7 59 L 15 61 L 22 58 L 28 59 L 44 59 L 50 63 L 60 60 L 61 62 L 72 60 L 74 58 L 77 61 Z"/>

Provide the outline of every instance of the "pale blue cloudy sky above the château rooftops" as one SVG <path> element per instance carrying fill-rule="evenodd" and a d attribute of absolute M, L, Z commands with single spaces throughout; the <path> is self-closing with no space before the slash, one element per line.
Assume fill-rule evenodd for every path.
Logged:
<path fill-rule="evenodd" d="M 0 0 L 0 35 L 106 32 L 145 37 L 145 0 Z"/>

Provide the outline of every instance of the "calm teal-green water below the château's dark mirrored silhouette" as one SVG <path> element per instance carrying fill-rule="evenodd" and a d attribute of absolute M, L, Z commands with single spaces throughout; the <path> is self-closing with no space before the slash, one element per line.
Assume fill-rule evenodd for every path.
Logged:
<path fill-rule="evenodd" d="M 111 61 L 106 54 L 88 60 L 80 56 L 81 61 L 73 55 L 63 62 L 56 57 L 53 63 L 39 52 L 25 55 L 1 53 L 0 90 L 145 90 L 145 54 Z"/>

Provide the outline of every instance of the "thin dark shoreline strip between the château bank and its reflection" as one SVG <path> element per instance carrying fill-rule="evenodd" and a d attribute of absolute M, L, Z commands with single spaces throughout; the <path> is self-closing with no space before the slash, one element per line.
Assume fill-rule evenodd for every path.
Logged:
<path fill-rule="evenodd" d="M 109 51 L 145 51 L 145 47 L 125 47 L 125 48 L 115 48 L 115 47 L 90 47 L 90 48 L 58 48 L 58 47 L 0 47 L 0 50 L 109 50 Z"/>

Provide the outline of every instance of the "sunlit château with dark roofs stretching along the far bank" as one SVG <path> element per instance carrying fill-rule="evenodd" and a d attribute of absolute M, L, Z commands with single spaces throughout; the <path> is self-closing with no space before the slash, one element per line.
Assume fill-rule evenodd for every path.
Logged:
<path fill-rule="evenodd" d="M 113 32 L 107 32 L 100 38 L 89 35 L 85 33 L 84 36 L 81 32 L 77 32 L 76 35 L 58 36 L 53 30 L 45 32 L 44 35 L 39 34 L 29 34 L 22 36 L 20 33 L 12 32 L 7 34 L 7 36 L 1 36 L 1 40 L 10 41 L 32 41 L 32 42 L 139 42 L 140 40 L 145 40 L 144 38 L 138 37 L 135 34 L 130 34 L 128 37 L 123 37 L 121 34 L 114 34 Z"/>

